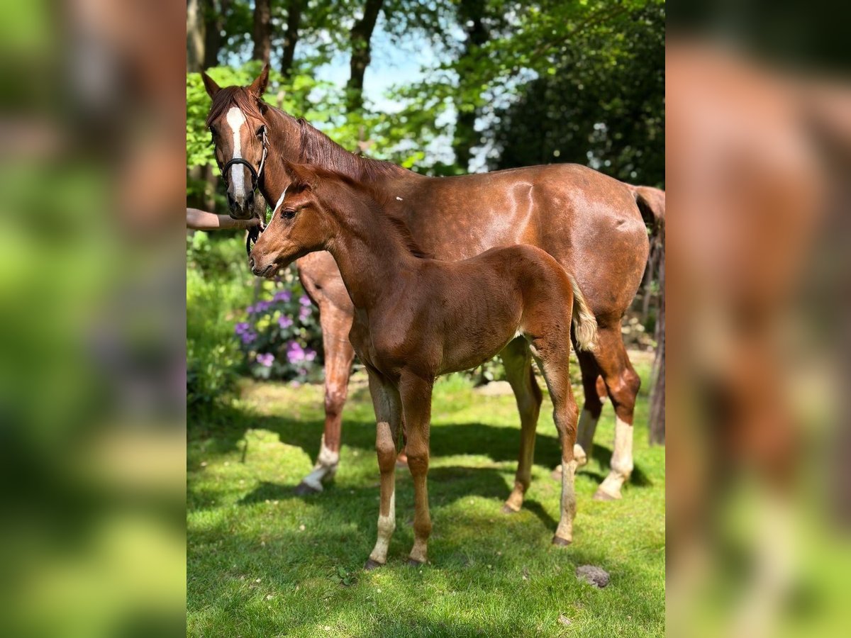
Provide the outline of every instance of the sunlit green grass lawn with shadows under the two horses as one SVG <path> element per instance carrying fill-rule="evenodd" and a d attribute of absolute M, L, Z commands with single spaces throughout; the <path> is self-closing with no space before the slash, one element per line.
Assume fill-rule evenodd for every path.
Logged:
<path fill-rule="evenodd" d="M 574 365 L 574 371 L 578 369 Z M 637 362 L 648 388 L 649 361 Z M 574 388 L 574 390 L 577 390 Z M 614 414 L 577 476 L 574 544 L 550 544 L 559 450 L 545 399 L 523 510 L 500 513 L 513 485 L 519 426 L 512 396 L 482 396 L 458 376 L 438 382 L 431 430 L 431 563 L 404 564 L 413 489 L 397 471 L 388 562 L 363 572 L 374 545 L 378 468 L 372 405 L 352 379 L 340 471 L 322 494 L 293 487 L 311 469 L 323 425 L 321 386 L 243 385 L 232 407 L 190 423 L 187 633 L 197 636 L 663 635 L 665 450 L 647 444 L 637 407 L 635 464 L 624 498 L 591 500 L 608 469 Z M 579 395 L 578 395 L 579 396 Z M 603 590 L 575 567 L 611 574 Z M 570 620 L 559 623 L 559 615 Z"/>

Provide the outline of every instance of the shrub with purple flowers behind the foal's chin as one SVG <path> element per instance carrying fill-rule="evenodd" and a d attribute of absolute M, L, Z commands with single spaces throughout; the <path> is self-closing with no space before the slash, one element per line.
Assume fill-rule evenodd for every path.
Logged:
<path fill-rule="evenodd" d="M 234 327 L 249 371 L 258 379 L 321 379 L 322 331 L 316 307 L 292 271 L 271 290 L 270 284 L 263 285 L 260 296 L 266 299 L 249 305 Z"/>

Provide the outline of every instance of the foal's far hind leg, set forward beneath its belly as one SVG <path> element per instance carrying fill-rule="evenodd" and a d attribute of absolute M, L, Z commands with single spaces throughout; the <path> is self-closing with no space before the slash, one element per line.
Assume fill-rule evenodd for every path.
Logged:
<path fill-rule="evenodd" d="M 517 476 L 514 479 L 514 489 L 502 506 L 505 514 L 520 510 L 523 496 L 532 481 L 532 463 L 534 461 L 534 434 L 538 427 L 538 415 L 542 396 L 540 388 L 534 379 L 532 370 L 532 355 L 526 340 L 514 339 L 500 352 L 505 377 L 514 390 L 517 400 L 517 410 L 520 412 L 520 453 L 517 458 Z"/>

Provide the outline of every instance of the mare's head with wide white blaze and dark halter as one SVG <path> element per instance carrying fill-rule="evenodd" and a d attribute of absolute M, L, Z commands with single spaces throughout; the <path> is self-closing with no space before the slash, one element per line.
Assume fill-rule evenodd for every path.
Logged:
<path fill-rule="evenodd" d="M 203 81 L 213 99 L 207 126 L 213 134 L 216 162 L 227 185 L 231 217 L 250 219 L 257 214 L 254 190 L 267 152 L 266 120 L 260 109 L 269 81 L 269 67 L 264 66 L 248 87 L 220 88 L 206 73 Z"/>

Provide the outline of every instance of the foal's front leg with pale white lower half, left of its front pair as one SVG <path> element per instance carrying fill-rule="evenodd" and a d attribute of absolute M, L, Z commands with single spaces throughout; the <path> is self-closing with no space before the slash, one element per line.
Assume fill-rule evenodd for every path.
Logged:
<path fill-rule="evenodd" d="M 375 453 L 381 473 L 381 499 L 378 539 L 364 569 L 386 563 L 390 538 L 396 529 L 396 451 L 402 419 L 398 390 L 372 371 L 369 371 L 369 393 L 375 408 Z"/>

